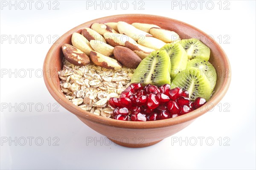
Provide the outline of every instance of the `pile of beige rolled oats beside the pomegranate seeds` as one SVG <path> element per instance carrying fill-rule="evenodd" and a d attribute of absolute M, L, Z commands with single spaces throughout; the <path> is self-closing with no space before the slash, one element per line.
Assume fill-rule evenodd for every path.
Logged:
<path fill-rule="evenodd" d="M 58 74 L 61 91 L 68 100 L 90 113 L 110 118 L 113 109 L 108 99 L 119 97 L 130 83 L 134 69 L 111 70 L 93 64 L 77 66 L 64 60 Z"/>

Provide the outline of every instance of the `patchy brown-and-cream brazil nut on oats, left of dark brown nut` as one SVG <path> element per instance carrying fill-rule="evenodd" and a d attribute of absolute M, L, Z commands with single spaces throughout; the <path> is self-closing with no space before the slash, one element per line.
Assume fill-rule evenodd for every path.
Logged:
<path fill-rule="evenodd" d="M 90 52 L 90 58 L 92 59 L 93 63 L 108 69 L 121 69 L 122 64 L 116 61 L 113 58 L 100 54 L 97 51 Z"/>

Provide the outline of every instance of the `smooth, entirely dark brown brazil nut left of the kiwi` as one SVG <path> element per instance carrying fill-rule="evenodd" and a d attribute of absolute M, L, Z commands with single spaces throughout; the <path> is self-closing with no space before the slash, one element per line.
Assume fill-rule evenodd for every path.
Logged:
<path fill-rule="evenodd" d="M 115 46 L 113 51 L 114 57 L 128 68 L 137 68 L 141 58 L 130 48 Z"/>

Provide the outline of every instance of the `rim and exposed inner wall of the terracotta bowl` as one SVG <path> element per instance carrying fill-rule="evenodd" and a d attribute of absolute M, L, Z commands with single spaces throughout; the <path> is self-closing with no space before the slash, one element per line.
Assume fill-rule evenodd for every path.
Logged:
<path fill-rule="evenodd" d="M 227 59 L 226 54 L 217 42 L 211 39 L 206 33 L 190 26 L 189 24 L 180 22 L 178 20 L 173 20 L 166 17 L 160 17 L 155 15 L 146 14 L 122 14 L 109 17 L 103 17 L 96 20 L 83 23 L 67 33 L 61 36 L 54 45 L 49 49 L 47 56 L 44 61 L 44 80 L 50 94 L 68 111 L 76 114 L 77 116 L 84 117 L 90 121 L 103 123 L 111 126 L 122 126 L 128 128 L 152 128 L 152 127 L 163 127 L 169 125 L 176 125 L 182 122 L 187 122 L 195 119 L 198 116 L 209 111 L 209 108 L 203 107 L 200 110 L 197 109 L 190 113 L 182 116 L 178 116 L 172 119 L 153 121 L 153 122 L 129 122 L 129 121 L 116 121 L 114 119 L 108 119 L 101 116 L 93 115 L 87 111 L 80 109 L 79 107 L 73 105 L 69 102 L 64 94 L 61 92 L 60 79 L 58 77 L 58 71 L 62 69 L 62 58 L 64 57 L 61 46 L 65 43 L 71 44 L 71 36 L 74 32 L 81 33 L 82 28 L 90 27 L 93 23 L 108 23 L 108 22 L 118 22 L 125 21 L 127 23 L 150 23 L 160 26 L 161 28 L 175 31 L 179 34 L 181 39 L 187 38 L 198 38 L 205 45 L 207 45 L 210 50 L 209 62 L 214 65 L 217 72 L 217 82 L 214 89 L 214 93 L 208 103 L 212 105 L 217 105 L 226 93 L 228 86 L 230 84 L 230 64 Z M 208 109 L 208 110 L 207 110 Z"/>

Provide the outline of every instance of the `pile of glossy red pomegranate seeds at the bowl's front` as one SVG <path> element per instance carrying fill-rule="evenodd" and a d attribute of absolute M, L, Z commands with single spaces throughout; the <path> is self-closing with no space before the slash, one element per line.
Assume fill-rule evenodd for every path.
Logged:
<path fill-rule="evenodd" d="M 109 105 L 114 108 L 113 116 L 117 120 L 153 121 L 177 117 L 200 108 L 206 103 L 198 97 L 190 101 L 189 93 L 181 88 L 170 89 L 170 85 L 143 87 L 132 83 L 120 98 L 111 97 Z"/>

